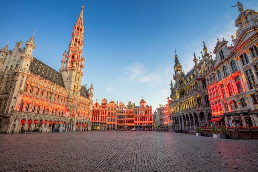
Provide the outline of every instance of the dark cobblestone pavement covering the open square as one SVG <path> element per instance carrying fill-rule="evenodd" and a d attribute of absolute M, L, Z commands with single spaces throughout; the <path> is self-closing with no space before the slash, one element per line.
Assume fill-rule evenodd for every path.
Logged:
<path fill-rule="evenodd" d="M 258 171 L 258 140 L 158 131 L 0 135 L 0 171 Z"/>

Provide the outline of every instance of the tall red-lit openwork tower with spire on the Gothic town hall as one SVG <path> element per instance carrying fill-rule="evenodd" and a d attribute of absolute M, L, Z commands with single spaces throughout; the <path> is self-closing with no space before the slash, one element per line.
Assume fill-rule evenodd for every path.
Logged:
<path fill-rule="evenodd" d="M 80 96 L 81 78 L 83 76 L 84 56 L 82 56 L 84 25 L 82 6 L 80 15 L 73 27 L 72 39 L 68 51 L 63 53 L 60 72 L 68 92 Z"/>

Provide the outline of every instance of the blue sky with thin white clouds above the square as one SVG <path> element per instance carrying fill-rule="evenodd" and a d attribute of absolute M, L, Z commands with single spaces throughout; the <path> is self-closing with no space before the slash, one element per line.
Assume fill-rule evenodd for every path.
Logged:
<path fill-rule="evenodd" d="M 257 10 L 255 1 L 241 1 Z M 200 56 L 202 41 L 213 51 L 217 38 L 236 33 L 236 1 L 3 1 L 0 48 L 28 41 L 36 28 L 33 56 L 57 71 L 68 49 L 73 25 L 84 5 L 84 76 L 93 78 L 94 102 L 106 98 L 153 109 L 165 104 L 174 73 L 174 47 L 185 72 Z"/>

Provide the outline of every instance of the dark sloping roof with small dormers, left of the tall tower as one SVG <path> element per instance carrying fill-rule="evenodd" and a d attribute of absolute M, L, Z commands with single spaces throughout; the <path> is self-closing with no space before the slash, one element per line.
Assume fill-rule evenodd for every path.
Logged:
<path fill-rule="evenodd" d="M 55 69 L 49 67 L 42 61 L 39 61 L 35 57 L 33 57 L 33 61 L 29 65 L 29 70 L 32 73 L 39 75 L 42 78 L 45 78 L 45 79 L 65 88 L 65 84 L 64 84 L 61 73 L 57 72 Z"/>

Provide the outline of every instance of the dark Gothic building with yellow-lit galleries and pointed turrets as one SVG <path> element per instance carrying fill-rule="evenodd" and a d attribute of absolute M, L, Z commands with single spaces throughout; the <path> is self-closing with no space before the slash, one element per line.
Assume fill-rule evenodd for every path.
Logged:
<path fill-rule="evenodd" d="M 186 131 L 186 127 L 195 131 L 196 127 L 206 125 L 211 119 L 206 80 L 203 73 L 204 57 L 198 62 L 195 54 L 193 54 L 193 62 L 195 64 L 194 68 L 185 74 L 182 71 L 178 56 L 175 55 L 175 75 L 173 74 L 175 82 L 174 84 L 172 84 L 172 80 L 170 82 L 171 101 L 168 102 L 169 129 L 180 132 Z"/>

